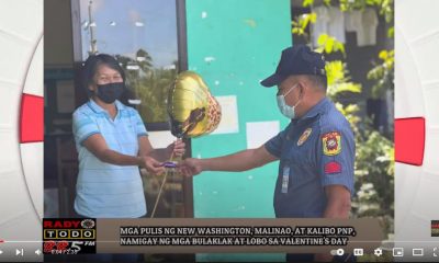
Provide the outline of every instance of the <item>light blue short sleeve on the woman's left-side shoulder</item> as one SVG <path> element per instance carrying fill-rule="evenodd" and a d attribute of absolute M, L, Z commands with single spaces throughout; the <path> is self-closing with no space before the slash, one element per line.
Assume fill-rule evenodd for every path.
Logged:
<path fill-rule="evenodd" d="M 91 135 L 101 133 L 98 124 L 90 116 L 80 112 L 74 113 L 72 129 L 78 145 L 82 145 Z"/>

